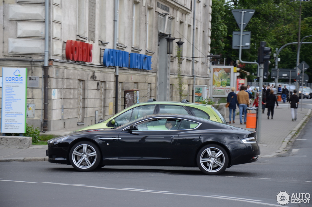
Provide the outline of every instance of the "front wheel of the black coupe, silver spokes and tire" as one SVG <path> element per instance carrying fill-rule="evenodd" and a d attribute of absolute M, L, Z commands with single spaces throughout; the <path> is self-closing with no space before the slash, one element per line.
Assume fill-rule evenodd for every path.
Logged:
<path fill-rule="evenodd" d="M 92 171 L 100 164 L 100 149 L 89 141 L 78 142 L 71 148 L 69 160 L 71 165 L 78 171 Z"/>

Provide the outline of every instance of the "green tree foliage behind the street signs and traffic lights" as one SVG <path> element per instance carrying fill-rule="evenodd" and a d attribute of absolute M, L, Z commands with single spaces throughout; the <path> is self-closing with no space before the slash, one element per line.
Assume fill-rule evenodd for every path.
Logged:
<path fill-rule="evenodd" d="M 286 43 L 298 41 L 299 27 L 299 1 L 291 0 L 212 0 L 215 3 L 216 12 L 212 10 L 212 35 L 211 51 L 214 54 L 226 58 L 227 64 L 235 63 L 238 59 L 238 49 L 232 49 L 232 33 L 239 31 L 237 23 L 232 15 L 232 9 L 255 9 L 256 12 L 246 26 L 246 31 L 251 31 L 251 48 L 243 49 L 242 60 L 254 62 L 258 59 L 258 47 L 261 41 L 266 41 L 267 47 L 272 48 L 272 53 Z M 223 8 L 220 8 L 223 4 Z M 212 6 L 212 9 L 214 7 Z M 221 11 L 221 12 L 220 12 Z M 222 15 L 224 16 L 222 17 Z M 215 18 L 215 20 L 214 20 Z M 220 21 L 220 19 L 222 21 Z M 312 35 L 312 2 L 302 2 L 301 38 Z M 222 36 L 220 23 L 227 28 L 226 36 Z M 222 27 L 221 27 L 222 28 Z M 300 39 L 301 39 L 300 38 Z M 305 41 L 312 41 L 306 38 Z M 221 42 L 221 43 L 220 43 Z M 279 58 L 279 68 L 294 68 L 296 66 L 297 45 L 285 47 Z M 305 60 L 312 68 L 312 44 L 301 46 L 300 62 Z M 271 68 L 275 68 L 274 59 L 271 59 Z M 308 69 L 309 71 L 312 71 Z M 244 70 L 256 73 L 255 64 L 246 64 Z M 311 75 L 311 74 L 310 74 Z M 255 76 L 250 76 L 250 79 Z M 269 79 L 268 81 L 272 81 Z M 283 79 L 280 79 L 282 81 Z M 310 82 L 312 77 L 310 77 Z M 288 80 L 286 80 L 288 81 Z"/>

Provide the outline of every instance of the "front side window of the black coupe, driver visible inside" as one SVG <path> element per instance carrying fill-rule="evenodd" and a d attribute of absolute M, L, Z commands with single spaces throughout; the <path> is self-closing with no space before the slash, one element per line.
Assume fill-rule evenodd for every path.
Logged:
<path fill-rule="evenodd" d="M 151 119 L 138 124 L 138 131 L 178 130 L 180 119 Z"/>

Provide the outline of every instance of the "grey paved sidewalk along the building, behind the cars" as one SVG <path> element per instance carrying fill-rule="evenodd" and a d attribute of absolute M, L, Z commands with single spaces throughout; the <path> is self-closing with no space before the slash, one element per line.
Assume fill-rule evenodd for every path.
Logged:
<path fill-rule="evenodd" d="M 282 152 L 288 141 L 295 135 L 304 121 L 311 113 L 310 109 L 298 109 L 297 120 L 291 121 L 290 109 L 288 104 L 279 103 L 280 107 L 274 109 L 273 119 L 267 119 L 267 109 L 262 114 L 262 127 L 260 139 L 260 157 L 273 157 Z M 228 109 L 227 109 L 228 110 Z M 237 112 L 237 110 L 236 110 Z M 228 113 L 227 113 L 228 114 Z M 225 117 L 229 121 L 229 117 Z M 240 124 L 239 116 L 235 117 L 235 124 L 229 124 L 235 127 L 246 128 L 246 124 Z M 78 129 L 78 128 L 77 128 Z M 46 134 L 65 135 L 76 129 L 64 129 L 59 131 L 49 131 Z M 254 131 L 255 129 L 247 129 Z M 0 162 L 8 161 L 47 161 L 46 145 L 32 145 L 27 149 L 0 148 Z"/>

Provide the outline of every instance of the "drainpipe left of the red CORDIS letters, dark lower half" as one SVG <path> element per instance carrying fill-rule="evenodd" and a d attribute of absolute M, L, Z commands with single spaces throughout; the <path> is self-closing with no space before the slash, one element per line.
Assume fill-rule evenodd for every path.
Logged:
<path fill-rule="evenodd" d="M 49 0 L 45 0 L 45 37 L 44 37 L 44 103 L 43 103 L 43 131 L 48 131 L 48 59 L 49 59 Z"/>

